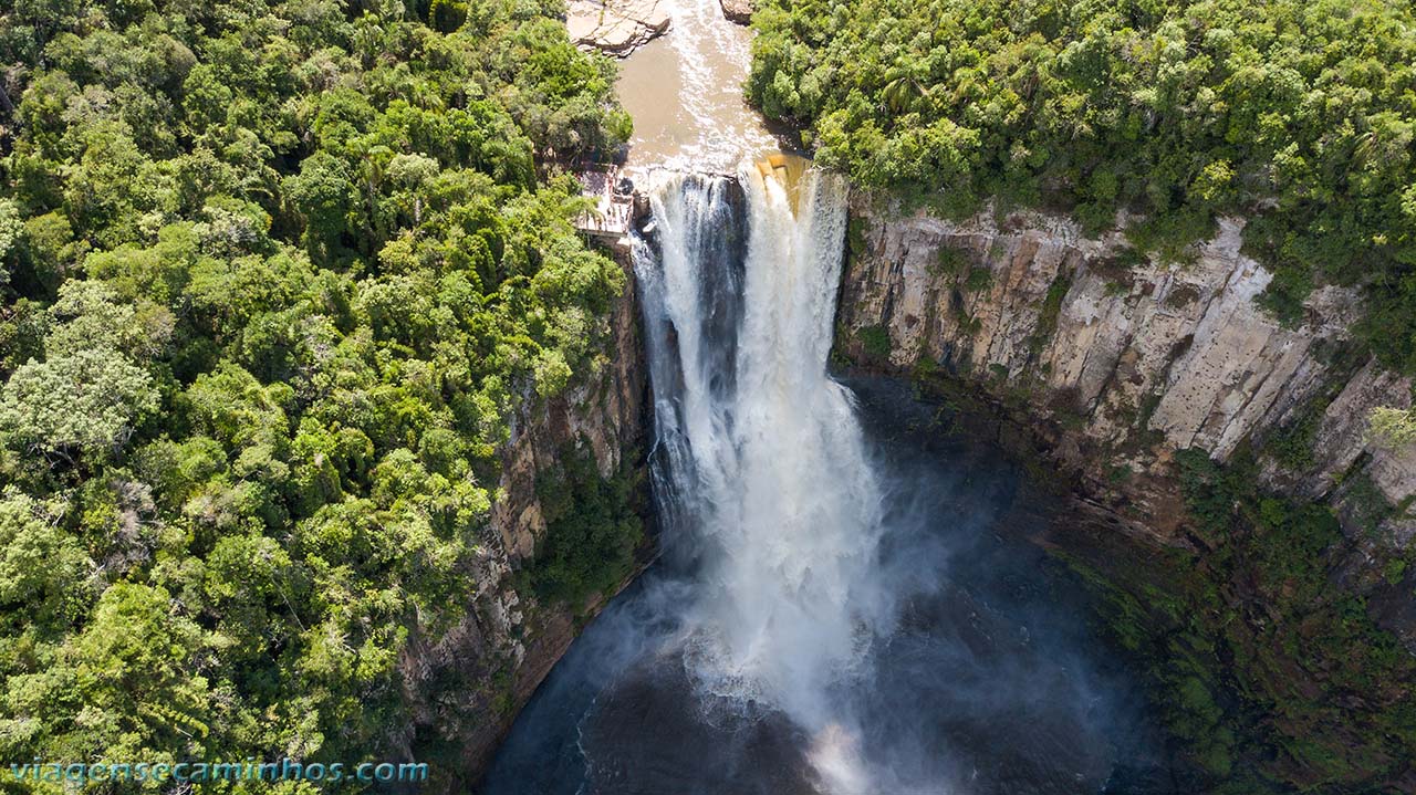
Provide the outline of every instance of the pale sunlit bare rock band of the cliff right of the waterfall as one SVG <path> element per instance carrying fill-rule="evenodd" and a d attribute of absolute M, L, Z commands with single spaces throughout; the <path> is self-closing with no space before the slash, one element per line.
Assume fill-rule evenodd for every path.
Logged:
<path fill-rule="evenodd" d="M 1263 457 L 1266 485 L 1330 498 L 1352 536 L 1354 482 L 1389 506 L 1416 494 L 1416 451 L 1366 441 L 1371 409 L 1409 406 L 1410 381 L 1355 361 L 1358 297 L 1318 290 L 1283 327 L 1255 303 L 1272 274 L 1240 253 L 1240 221 L 1175 263 L 1059 216 L 949 222 L 861 197 L 852 208 L 838 345 L 895 371 L 946 368 L 1025 406 L 1049 455 L 1121 529 L 1184 543 L 1174 451 L 1225 461 L 1274 436 L 1290 454 Z M 1362 543 L 1412 543 L 1416 522 L 1388 513 Z"/>

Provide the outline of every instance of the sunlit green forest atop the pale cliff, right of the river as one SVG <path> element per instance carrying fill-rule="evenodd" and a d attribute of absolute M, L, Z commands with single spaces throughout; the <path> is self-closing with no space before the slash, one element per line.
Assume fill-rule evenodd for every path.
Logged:
<path fill-rule="evenodd" d="M 820 160 L 950 212 L 1140 214 L 1167 255 L 1250 218 L 1264 303 L 1371 291 L 1416 372 L 1416 13 L 1400 0 L 765 0 L 748 92 Z"/>

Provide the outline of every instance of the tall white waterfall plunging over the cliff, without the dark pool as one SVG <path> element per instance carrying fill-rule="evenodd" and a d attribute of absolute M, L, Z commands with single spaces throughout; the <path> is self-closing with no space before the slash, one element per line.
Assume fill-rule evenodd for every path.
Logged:
<path fill-rule="evenodd" d="M 810 170 L 796 192 L 755 170 L 667 177 L 636 270 L 664 543 L 694 570 L 690 675 L 835 737 L 831 687 L 892 611 L 881 489 L 827 373 L 844 182 Z"/>

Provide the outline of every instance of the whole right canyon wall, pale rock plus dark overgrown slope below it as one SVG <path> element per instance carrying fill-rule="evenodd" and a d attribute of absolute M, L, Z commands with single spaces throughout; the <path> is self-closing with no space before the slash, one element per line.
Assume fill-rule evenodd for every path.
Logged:
<path fill-rule="evenodd" d="M 1222 221 L 1164 262 L 1056 215 L 940 221 L 857 195 L 835 351 L 943 398 L 940 429 L 1062 475 L 1076 509 L 1038 542 L 1146 672 L 1194 764 L 1177 789 L 1267 791 L 1259 771 L 1416 792 L 1398 646 L 1416 654 L 1416 451 L 1366 433 L 1412 383 L 1351 338 L 1354 291 L 1270 317 L 1240 233 Z"/>

